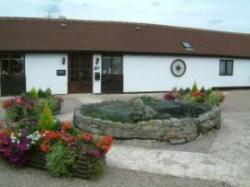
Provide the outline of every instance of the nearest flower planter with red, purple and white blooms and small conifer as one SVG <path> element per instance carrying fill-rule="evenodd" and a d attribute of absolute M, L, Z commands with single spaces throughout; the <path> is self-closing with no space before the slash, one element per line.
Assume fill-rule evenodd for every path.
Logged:
<path fill-rule="evenodd" d="M 15 104 L 8 107 L 4 102 L 7 110 L 25 105 L 18 98 L 11 102 Z M 105 154 L 113 142 L 111 136 L 79 132 L 70 122 L 55 120 L 47 103 L 37 114 L 32 120 L 14 118 L 0 125 L 0 156 L 4 160 L 16 167 L 46 169 L 57 177 L 89 179 L 104 172 Z"/>

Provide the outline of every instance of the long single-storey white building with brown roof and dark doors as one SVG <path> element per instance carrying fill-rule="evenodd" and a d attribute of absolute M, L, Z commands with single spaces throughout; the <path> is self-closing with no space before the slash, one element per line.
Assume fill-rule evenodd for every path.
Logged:
<path fill-rule="evenodd" d="M 163 25 L 0 18 L 0 93 L 250 87 L 250 35 Z"/>

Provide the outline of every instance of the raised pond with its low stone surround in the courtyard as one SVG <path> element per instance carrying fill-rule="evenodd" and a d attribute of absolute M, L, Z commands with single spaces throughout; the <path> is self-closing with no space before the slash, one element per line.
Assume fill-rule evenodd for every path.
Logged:
<path fill-rule="evenodd" d="M 220 128 L 220 108 L 151 97 L 83 105 L 74 111 L 81 130 L 116 139 L 182 144 Z"/>

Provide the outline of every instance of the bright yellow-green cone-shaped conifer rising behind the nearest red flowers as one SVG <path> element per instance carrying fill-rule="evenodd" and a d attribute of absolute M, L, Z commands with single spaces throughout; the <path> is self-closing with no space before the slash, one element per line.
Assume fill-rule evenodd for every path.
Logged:
<path fill-rule="evenodd" d="M 55 127 L 53 114 L 47 105 L 44 106 L 44 109 L 39 117 L 38 127 L 41 130 L 53 130 Z"/>

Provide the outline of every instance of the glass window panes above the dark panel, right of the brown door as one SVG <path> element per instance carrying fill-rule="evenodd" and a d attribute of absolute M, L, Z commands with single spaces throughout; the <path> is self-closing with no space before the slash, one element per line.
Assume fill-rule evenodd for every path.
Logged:
<path fill-rule="evenodd" d="M 122 56 L 103 56 L 102 74 L 122 75 Z"/>

